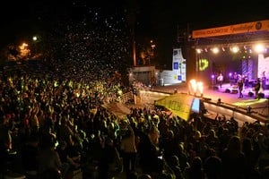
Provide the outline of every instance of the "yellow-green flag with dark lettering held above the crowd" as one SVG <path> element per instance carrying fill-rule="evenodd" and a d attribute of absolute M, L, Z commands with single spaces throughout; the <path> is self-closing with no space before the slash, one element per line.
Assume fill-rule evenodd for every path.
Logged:
<path fill-rule="evenodd" d="M 186 93 L 176 93 L 169 97 L 157 100 L 155 105 L 165 107 L 171 111 L 173 115 L 178 115 L 181 119 L 187 121 L 191 112 L 193 100 L 194 97 L 189 96 Z"/>

